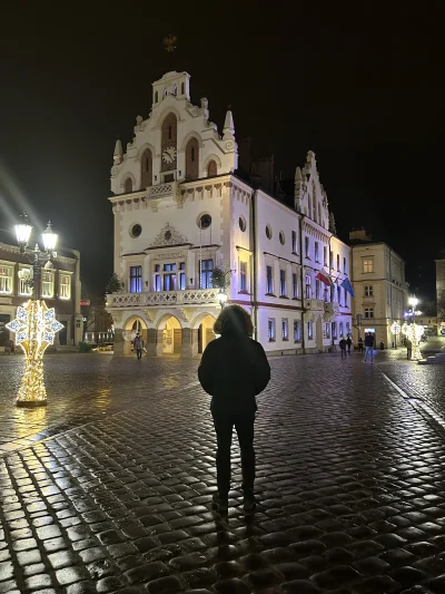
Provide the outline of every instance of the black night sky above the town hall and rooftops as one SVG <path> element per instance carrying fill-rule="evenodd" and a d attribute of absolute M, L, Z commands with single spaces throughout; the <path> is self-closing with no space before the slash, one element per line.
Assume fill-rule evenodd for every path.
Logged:
<path fill-rule="evenodd" d="M 444 89 L 428 2 L 403 13 L 389 2 L 362 13 L 319 2 L 92 4 L 2 7 L 0 228 L 23 208 L 41 225 L 50 217 L 81 251 L 85 296 L 102 293 L 116 138 L 125 146 L 148 116 L 154 80 L 187 70 L 192 103 L 207 97 L 219 129 L 230 105 L 237 137 L 251 137 L 254 156 L 274 153 L 277 175 L 293 177 L 313 149 L 340 238 L 365 226 L 406 260 L 412 290 L 434 296 Z"/>

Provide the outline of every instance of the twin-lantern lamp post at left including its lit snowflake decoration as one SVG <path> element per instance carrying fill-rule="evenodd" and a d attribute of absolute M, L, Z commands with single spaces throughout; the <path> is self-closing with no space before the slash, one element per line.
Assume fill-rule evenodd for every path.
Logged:
<path fill-rule="evenodd" d="M 22 218 L 22 223 L 14 225 L 17 243 L 20 253 L 27 255 L 32 269 L 21 271 L 19 277 L 32 289 L 32 299 L 17 309 L 16 320 L 9 322 L 7 328 L 16 333 L 16 344 L 20 344 L 26 356 L 23 378 L 16 403 L 18 407 L 42 407 L 47 405 L 43 353 L 49 344 L 53 344 L 56 332 L 63 328 L 63 324 L 56 320 L 55 309 L 48 309 L 40 299 L 41 270 L 52 267 L 52 261 L 57 257 L 57 235 L 49 222 L 41 234 L 44 251 L 40 251 L 38 243 L 32 251 L 28 250 L 32 226 L 29 225 L 27 215 Z"/>

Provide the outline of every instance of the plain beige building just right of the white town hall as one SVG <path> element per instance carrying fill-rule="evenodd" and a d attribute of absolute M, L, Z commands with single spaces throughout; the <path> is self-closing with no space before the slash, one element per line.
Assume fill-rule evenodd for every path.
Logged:
<path fill-rule="evenodd" d="M 354 342 L 373 332 L 376 345 L 399 345 L 402 334 L 390 331 L 394 322 L 405 321 L 408 285 L 404 260 L 386 243 L 373 243 L 366 231 L 349 234 L 353 243 Z M 357 315 L 360 317 L 359 321 Z"/>

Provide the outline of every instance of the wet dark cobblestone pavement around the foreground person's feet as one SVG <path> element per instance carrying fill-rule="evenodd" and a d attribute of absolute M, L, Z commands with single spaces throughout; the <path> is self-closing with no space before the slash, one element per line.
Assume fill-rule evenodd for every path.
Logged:
<path fill-rule="evenodd" d="M 0 594 L 445 592 L 444 434 L 387 381 L 393 363 L 271 359 L 260 506 L 241 513 L 234 445 L 224 519 L 197 361 L 86 358 L 73 383 L 56 357 L 48 415 L 69 397 L 87 421 L 106 381 L 108 413 L 0 457 Z"/>

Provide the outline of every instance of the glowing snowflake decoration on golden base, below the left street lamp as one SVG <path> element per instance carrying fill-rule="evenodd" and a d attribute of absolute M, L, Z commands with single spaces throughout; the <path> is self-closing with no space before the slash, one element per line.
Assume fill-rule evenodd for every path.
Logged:
<path fill-rule="evenodd" d="M 55 309 L 48 309 L 44 301 L 30 300 L 17 309 L 17 318 L 6 327 L 16 333 L 16 344 L 20 344 L 26 356 L 17 405 L 44 406 L 43 353 L 49 344 L 53 344 L 55 334 L 63 324 L 56 320 Z"/>

